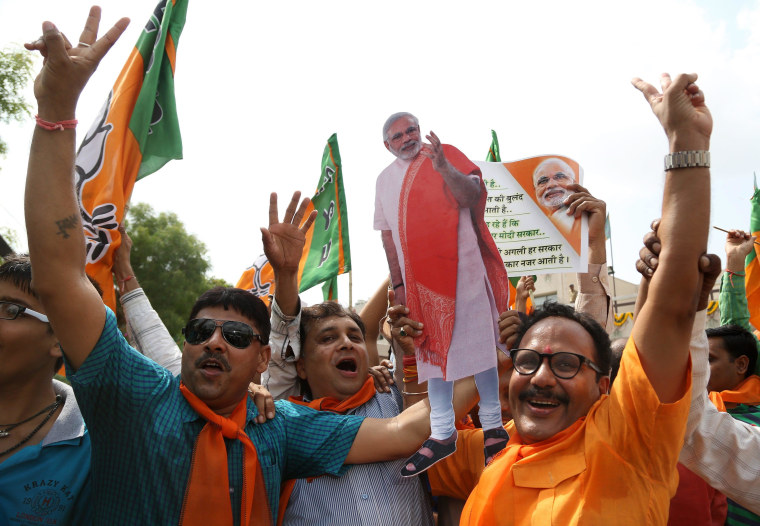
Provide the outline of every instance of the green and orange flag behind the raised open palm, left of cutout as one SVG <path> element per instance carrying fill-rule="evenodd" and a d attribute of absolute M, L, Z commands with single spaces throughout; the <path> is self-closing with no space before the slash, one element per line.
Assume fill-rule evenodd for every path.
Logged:
<path fill-rule="evenodd" d="M 322 155 L 322 170 L 317 190 L 306 209 L 305 217 L 317 211 L 317 219 L 306 234 L 306 244 L 298 266 L 299 291 L 325 282 L 325 301 L 338 298 L 338 275 L 351 270 L 351 247 L 348 241 L 348 213 L 343 191 L 343 168 L 338 137 L 327 140 Z M 274 294 L 274 272 L 262 255 L 238 280 L 237 287 L 249 290 L 267 304 Z"/>

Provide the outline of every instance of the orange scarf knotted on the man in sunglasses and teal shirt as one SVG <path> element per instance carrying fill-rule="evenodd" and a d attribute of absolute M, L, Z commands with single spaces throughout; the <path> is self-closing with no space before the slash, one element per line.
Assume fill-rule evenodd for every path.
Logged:
<path fill-rule="evenodd" d="M 206 419 L 193 449 L 190 479 L 182 505 L 181 526 L 232 524 L 230 486 L 227 475 L 227 448 L 224 438 L 236 438 L 243 443 L 243 495 L 240 524 L 271 525 L 264 475 L 261 472 L 256 448 L 243 431 L 247 414 L 243 398 L 230 418 L 216 414 L 197 396 L 179 384 L 180 392 L 196 413 Z M 253 476 L 253 484 L 250 477 Z"/>

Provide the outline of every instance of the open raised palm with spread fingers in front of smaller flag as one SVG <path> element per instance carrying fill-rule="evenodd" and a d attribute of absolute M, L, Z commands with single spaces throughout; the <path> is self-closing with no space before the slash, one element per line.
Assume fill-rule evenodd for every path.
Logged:
<path fill-rule="evenodd" d="M 301 254 L 306 243 L 306 232 L 317 217 L 317 211 L 312 210 L 301 225 L 309 205 L 309 198 L 305 197 L 299 206 L 300 197 L 301 192 L 293 194 L 280 222 L 277 212 L 277 194 L 272 193 L 269 196 L 269 228 L 261 228 L 261 240 L 264 244 L 264 254 L 275 272 L 298 271 L 298 263 L 301 261 Z M 296 207 L 298 207 L 297 210 Z"/>

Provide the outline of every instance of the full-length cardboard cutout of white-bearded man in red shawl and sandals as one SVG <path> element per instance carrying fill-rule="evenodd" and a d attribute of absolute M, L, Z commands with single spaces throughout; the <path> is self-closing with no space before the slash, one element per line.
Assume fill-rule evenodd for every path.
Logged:
<path fill-rule="evenodd" d="M 474 376 L 480 393 L 486 461 L 506 444 L 494 348 L 499 313 L 509 303 L 507 273 L 483 220 L 486 189 L 480 169 L 430 132 L 422 142 L 417 118 L 391 115 L 385 147 L 396 160 L 377 179 L 376 230 L 382 232 L 392 287 L 420 320 L 416 371 L 428 382 L 431 436 L 402 470 L 412 476 L 456 450 L 453 381 Z M 413 329 L 407 328 L 412 331 Z"/>

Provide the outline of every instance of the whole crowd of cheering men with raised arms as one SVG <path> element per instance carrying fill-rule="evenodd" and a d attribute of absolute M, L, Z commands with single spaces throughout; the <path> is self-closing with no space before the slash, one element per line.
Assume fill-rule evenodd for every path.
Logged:
<path fill-rule="evenodd" d="M 375 215 L 389 254 L 387 298 L 383 286 L 360 315 L 337 303 L 302 306 L 298 265 L 314 213 L 298 193 L 282 214 L 272 194 L 262 228 L 276 280 L 271 311 L 247 291 L 213 288 L 188 305 L 180 351 L 134 276 L 126 232 L 114 276 L 132 345 L 85 274 L 75 131 L 61 123 L 73 121 L 126 28 L 121 20 L 98 39 L 99 19 L 93 8 L 77 46 L 49 22 L 27 45 L 45 62 L 27 174 L 30 254 L 0 265 L 0 524 L 760 524 L 758 341 L 743 276 L 754 238 L 728 234 L 721 327 L 706 331 L 721 265 L 705 254 L 712 117 L 696 75 L 663 75 L 660 90 L 633 82 L 669 150 L 622 353 L 608 336 L 605 204 L 565 181 L 556 159 L 535 184 L 553 214 L 587 217 L 588 272 L 573 306 L 521 312 L 533 287 L 525 279 L 516 308 L 492 315 L 505 291 L 487 255 L 475 258 L 480 330 L 492 334 L 481 344 L 457 326 L 458 308 L 441 332 L 458 352 L 487 345 L 473 350 L 487 357 L 471 374 L 421 350 L 437 311 L 412 283 L 419 255 L 405 244 L 406 226 L 392 224 L 398 209 Z M 472 163 L 432 132 L 423 144 L 411 114 L 394 114 L 383 135 L 404 161 L 392 165 L 397 179 L 427 170 L 427 160 L 424 177 L 438 173 L 440 196 L 454 197 L 454 254 L 487 254 L 477 218 L 485 188 Z M 392 342 L 395 381 L 367 353 L 367 335 L 378 332 Z M 62 362 L 70 386 L 54 379 Z M 444 365 L 438 374 L 423 363 Z M 429 402 L 434 384 L 441 398 Z M 498 407 L 489 394 L 473 410 L 479 390 L 498 392 Z"/>

